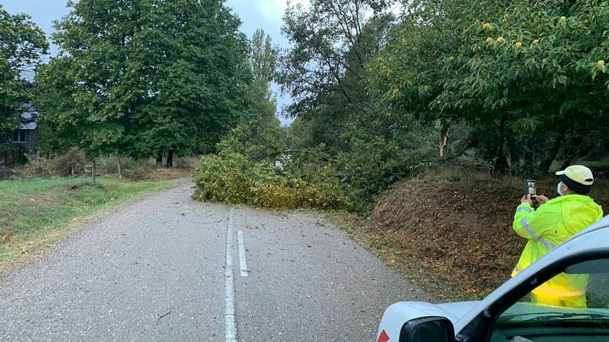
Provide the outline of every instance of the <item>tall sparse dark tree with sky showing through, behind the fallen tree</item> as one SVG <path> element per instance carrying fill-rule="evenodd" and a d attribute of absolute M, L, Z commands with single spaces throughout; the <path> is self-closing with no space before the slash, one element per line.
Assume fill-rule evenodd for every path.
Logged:
<path fill-rule="evenodd" d="M 312 136 L 303 141 L 334 147 L 345 124 L 371 121 L 364 66 L 379 53 L 394 20 L 387 12 L 391 4 L 314 0 L 307 10 L 287 9 L 282 30 L 293 48 L 280 58 L 280 83 L 294 99 L 287 115 L 309 126 L 301 131 Z"/>

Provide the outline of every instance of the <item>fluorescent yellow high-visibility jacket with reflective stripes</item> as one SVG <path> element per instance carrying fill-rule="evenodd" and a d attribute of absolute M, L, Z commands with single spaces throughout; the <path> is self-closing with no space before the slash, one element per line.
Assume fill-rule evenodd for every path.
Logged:
<path fill-rule="evenodd" d="M 548 200 L 537 210 L 528 203 L 522 203 L 516 209 L 513 229 L 529 241 L 512 276 L 602 217 L 603 209 L 588 196 L 560 196 Z M 561 273 L 532 293 L 538 298 L 547 299 L 540 300 L 540 303 L 581 303 L 577 306 L 585 307 L 587 287 L 588 275 Z"/>

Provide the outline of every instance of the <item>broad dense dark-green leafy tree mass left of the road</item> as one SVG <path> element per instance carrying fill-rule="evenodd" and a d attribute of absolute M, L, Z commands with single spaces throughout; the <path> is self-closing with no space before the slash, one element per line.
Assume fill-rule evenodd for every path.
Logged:
<path fill-rule="evenodd" d="M 47 122 L 89 156 L 214 144 L 248 106 L 248 44 L 219 0 L 81 0 L 56 24 Z M 67 108 L 66 108 L 67 107 Z M 65 113 L 70 113 L 66 115 Z"/>

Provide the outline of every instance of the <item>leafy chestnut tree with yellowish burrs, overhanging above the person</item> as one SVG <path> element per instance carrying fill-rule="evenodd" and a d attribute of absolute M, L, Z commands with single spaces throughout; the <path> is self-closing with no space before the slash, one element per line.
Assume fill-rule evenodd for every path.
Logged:
<path fill-rule="evenodd" d="M 608 10 L 585 0 L 415 1 L 370 61 L 370 89 L 422 122 L 466 122 L 498 173 L 511 164 L 543 175 L 567 137 L 606 136 Z"/>

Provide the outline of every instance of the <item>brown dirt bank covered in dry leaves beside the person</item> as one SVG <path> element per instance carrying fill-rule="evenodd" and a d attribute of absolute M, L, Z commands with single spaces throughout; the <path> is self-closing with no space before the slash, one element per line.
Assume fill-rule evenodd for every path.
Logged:
<path fill-rule="evenodd" d="M 372 213 L 377 234 L 471 294 L 492 291 L 509 278 L 525 240 L 511 229 L 522 180 L 478 173 L 427 176 L 397 184 Z M 541 182 L 553 194 L 554 179 Z M 607 208 L 607 184 L 591 194 Z"/>

